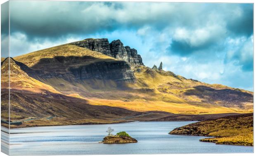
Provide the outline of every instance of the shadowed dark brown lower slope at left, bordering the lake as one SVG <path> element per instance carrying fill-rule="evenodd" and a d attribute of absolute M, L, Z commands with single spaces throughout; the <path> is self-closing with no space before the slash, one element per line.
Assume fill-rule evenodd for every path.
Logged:
<path fill-rule="evenodd" d="M 2 90 L 2 103 L 8 102 L 9 93 Z M 20 126 L 51 126 L 73 124 L 101 124 L 126 122 L 126 116 L 140 115 L 123 108 L 93 106 L 88 101 L 62 94 L 38 94 L 11 89 L 11 121 L 23 122 Z M 2 105 L 2 119 L 7 120 L 8 106 Z M 6 115 L 6 116 L 5 116 Z"/>

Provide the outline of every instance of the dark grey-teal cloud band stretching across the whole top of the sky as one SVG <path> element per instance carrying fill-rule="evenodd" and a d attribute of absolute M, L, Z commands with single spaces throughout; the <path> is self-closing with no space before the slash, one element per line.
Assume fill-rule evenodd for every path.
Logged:
<path fill-rule="evenodd" d="M 28 37 L 56 38 L 145 25 L 159 31 L 221 25 L 230 33 L 250 35 L 253 24 L 252 4 L 11 1 L 10 11 L 11 31 Z"/>

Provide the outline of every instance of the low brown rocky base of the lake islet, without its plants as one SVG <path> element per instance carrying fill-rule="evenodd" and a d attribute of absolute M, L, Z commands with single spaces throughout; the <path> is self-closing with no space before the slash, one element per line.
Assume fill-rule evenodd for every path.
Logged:
<path fill-rule="evenodd" d="M 124 144 L 124 143 L 136 143 L 138 142 L 136 139 L 132 137 L 123 137 L 123 136 L 106 136 L 102 143 L 104 144 Z"/>

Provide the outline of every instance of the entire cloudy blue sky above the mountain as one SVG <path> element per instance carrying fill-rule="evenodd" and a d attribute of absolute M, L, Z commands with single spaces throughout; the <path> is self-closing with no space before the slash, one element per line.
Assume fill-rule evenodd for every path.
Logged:
<path fill-rule="evenodd" d="M 10 1 L 11 57 L 120 39 L 148 67 L 163 62 L 185 78 L 253 91 L 253 37 L 253 4 Z"/>

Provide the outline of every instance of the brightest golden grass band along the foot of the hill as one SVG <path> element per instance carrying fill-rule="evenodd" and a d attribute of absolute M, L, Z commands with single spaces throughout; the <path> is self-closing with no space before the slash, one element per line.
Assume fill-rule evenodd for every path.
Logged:
<path fill-rule="evenodd" d="M 112 107 L 126 108 L 128 110 L 146 112 L 146 111 L 165 111 L 175 114 L 218 114 L 218 113 L 230 113 L 230 112 L 248 112 L 246 110 L 231 109 L 221 106 L 213 106 L 210 104 L 198 104 L 192 105 L 188 103 L 171 103 L 164 101 L 151 101 L 151 100 L 136 100 L 136 101 L 121 101 L 121 100 L 109 100 L 109 99 L 95 99 L 87 98 L 91 105 L 107 105 Z"/>

